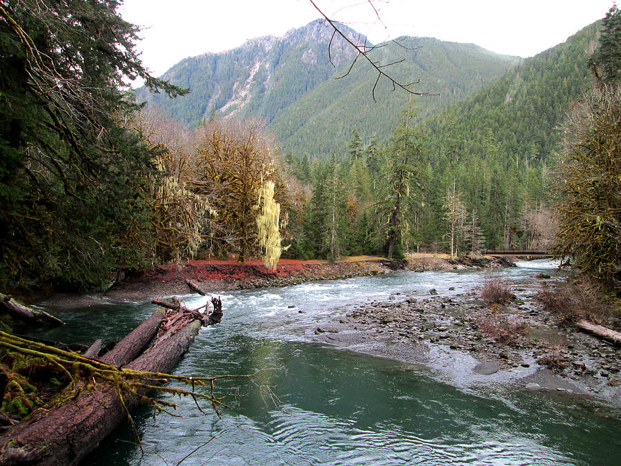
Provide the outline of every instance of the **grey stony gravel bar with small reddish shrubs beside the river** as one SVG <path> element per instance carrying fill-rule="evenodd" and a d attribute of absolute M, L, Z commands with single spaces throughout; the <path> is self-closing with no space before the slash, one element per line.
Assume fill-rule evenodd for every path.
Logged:
<path fill-rule="evenodd" d="M 491 307 L 478 294 L 391 295 L 343 310 L 313 332 L 338 347 L 439 369 L 459 385 L 515 382 L 621 408 L 621 348 L 560 329 L 533 294 Z"/>

